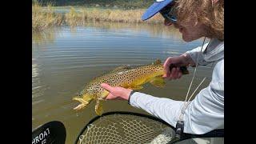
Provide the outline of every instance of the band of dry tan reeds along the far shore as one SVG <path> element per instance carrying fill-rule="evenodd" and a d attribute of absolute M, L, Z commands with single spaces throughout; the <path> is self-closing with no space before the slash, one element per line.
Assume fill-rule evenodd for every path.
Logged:
<path fill-rule="evenodd" d="M 70 11 L 66 14 L 58 14 L 54 12 L 54 6 L 44 7 L 34 3 L 32 5 L 32 30 L 44 30 L 50 26 L 80 26 L 84 25 L 87 21 L 98 22 L 142 22 L 141 16 L 144 9 L 138 10 L 117 10 L 117 9 L 99 9 L 99 8 L 86 8 L 76 10 L 70 6 Z M 45 10 L 46 9 L 46 10 Z M 146 23 L 160 23 L 163 18 L 160 15 L 150 18 Z"/>

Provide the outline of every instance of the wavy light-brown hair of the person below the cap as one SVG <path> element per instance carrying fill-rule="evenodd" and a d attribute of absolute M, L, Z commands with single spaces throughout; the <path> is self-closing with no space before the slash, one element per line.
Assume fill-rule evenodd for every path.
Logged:
<path fill-rule="evenodd" d="M 224 41 L 224 0 L 177 0 L 175 5 L 179 22 L 193 18 L 195 25 L 202 22 L 207 27 L 207 37 Z"/>

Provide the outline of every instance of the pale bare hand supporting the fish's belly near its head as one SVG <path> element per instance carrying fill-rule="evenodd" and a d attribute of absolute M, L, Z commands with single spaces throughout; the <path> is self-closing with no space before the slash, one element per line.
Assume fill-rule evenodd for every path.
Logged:
<path fill-rule="evenodd" d="M 112 87 L 106 83 L 102 83 L 101 86 L 110 92 L 110 94 L 107 95 L 106 100 L 109 100 L 109 99 L 128 100 L 130 92 L 132 91 L 130 89 L 126 89 L 123 87 Z"/>

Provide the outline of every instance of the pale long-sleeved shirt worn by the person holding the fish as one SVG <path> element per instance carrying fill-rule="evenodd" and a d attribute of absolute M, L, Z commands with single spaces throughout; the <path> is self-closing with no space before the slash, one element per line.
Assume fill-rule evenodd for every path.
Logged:
<path fill-rule="evenodd" d="M 212 62 L 216 65 L 209 86 L 201 90 L 185 110 L 184 133 L 205 134 L 224 128 L 224 42 L 213 38 L 203 46 L 202 51 L 205 49 L 205 53 L 200 52 L 201 46 L 186 52 L 194 62 L 198 56 L 198 65 Z M 130 105 L 146 110 L 175 127 L 183 102 L 135 92 L 130 96 Z"/>

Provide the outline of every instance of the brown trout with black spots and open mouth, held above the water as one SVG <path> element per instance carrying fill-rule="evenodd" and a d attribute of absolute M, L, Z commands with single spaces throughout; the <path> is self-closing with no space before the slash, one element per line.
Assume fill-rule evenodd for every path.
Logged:
<path fill-rule="evenodd" d="M 150 82 L 153 86 L 163 87 L 165 86 L 164 79 L 162 78 L 164 73 L 165 70 L 160 60 L 156 60 L 156 62 L 150 65 L 120 66 L 108 74 L 94 78 L 94 80 L 88 83 L 80 94 L 73 98 L 73 100 L 81 102 L 74 110 L 81 110 L 92 100 L 95 100 L 95 112 L 98 115 L 102 115 L 102 101 L 109 94 L 107 90 L 102 88 L 102 83 L 132 90 L 141 90 L 143 88 L 142 85 L 146 82 Z M 187 73 L 187 70 L 182 70 L 182 74 Z"/>

